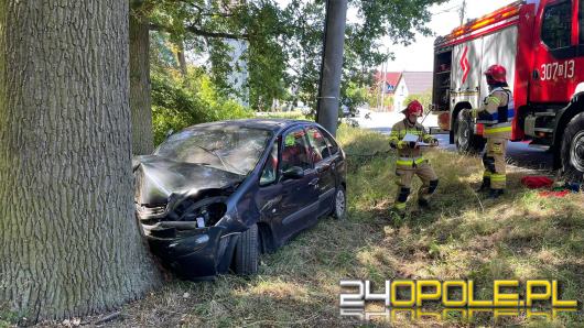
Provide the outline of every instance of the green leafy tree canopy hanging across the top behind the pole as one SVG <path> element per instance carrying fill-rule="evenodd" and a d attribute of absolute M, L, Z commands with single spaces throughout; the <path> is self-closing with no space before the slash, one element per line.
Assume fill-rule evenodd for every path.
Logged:
<path fill-rule="evenodd" d="M 391 57 L 380 40 L 409 44 L 414 33 L 429 35 L 429 8 L 445 0 L 371 1 L 349 0 L 357 20 L 347 22 L 342 90 L 370 85 L 375 67 Z M 136 4 L 138 3 L 138 4 Z M 148 17 L 152 26 L 184 42 L 191 55 L 212 65 L 205 72 L 221 96 L 234 95 L 229 76 L 246 69 L 249 76 L 244 96 L 256 110 L 267 110 L 274 99 L 301 100 L 315 108 L 321 70 L 324 0 L 133 0 L 132 12 Z M 245 41 L 247 50 L 237 67 L 226 40 Z M 354 86 L 352 86 L 352 84 Z M 291 95 L 289 95 L 289 92 Z M 241 96 L 241 95 L 240 95 Z M 360 100 L 343 94 L 349 108 Z"/>

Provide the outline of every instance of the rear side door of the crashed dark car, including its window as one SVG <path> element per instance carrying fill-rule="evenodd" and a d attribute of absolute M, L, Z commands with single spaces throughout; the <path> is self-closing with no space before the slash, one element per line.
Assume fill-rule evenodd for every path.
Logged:
<path fill-rule="evenodd" d="M 335 158 L 331 153 L 323 132 L 315 125 L 306 130 L 311 157 L 318 175 L 316 190 L 318 192 L 318 216 L 327 215 L 333 208 L 336 190 Z"/>

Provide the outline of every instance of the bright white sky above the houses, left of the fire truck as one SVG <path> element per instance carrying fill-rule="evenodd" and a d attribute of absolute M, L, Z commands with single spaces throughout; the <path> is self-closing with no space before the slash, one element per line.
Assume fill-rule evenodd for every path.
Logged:
<path fill-rule="evenodd" d="M 475 19 L 493 12 L 515 0 L 467 0 L 466 19 Z M 451 0 L 441 6 L 434 6 L 431 9 L 433 19 L 428 26 L 432 29 L 435 35 L 448 34 L 459 25 L 459 8 L 463 0 Z M 348 17 L 350 20 L 350 14 Z M 388 63 L 387 72 L 431 72 L 433 69 L 434 40 L 436 36 L 424 37 L 417 35 L 417 40 L 410 46 L 393 45 L 389 40 L 383 40 L 383 50 L 393 52 L 396 59 Z M 379 67 L 378 69 L 381 69 Z"/>

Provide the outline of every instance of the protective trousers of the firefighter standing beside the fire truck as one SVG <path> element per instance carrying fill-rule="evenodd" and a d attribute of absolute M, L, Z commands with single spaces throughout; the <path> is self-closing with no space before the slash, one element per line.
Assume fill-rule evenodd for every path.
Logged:
<path fill-rule="evenodd" d="M 507 154 L 507 139 L 487 138 L 487 146 L 483 155 L 485 173 L 484 181 L 491 189 L 502 190 L 507 183 L 505 155 Z"/>

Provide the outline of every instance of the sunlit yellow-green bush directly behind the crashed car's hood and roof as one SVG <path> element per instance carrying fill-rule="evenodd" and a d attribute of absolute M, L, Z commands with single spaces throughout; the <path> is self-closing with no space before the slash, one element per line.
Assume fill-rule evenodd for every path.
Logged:
<path fill-rule="evenodd" d="M 190 67 L 186 76 L 176 70 L 153 70 L 152 124 L 154 143 L 160 144 L 169 130 L 218 120 L 250 118 L 252 112 L 221 97 L 212 78 Z"/>

